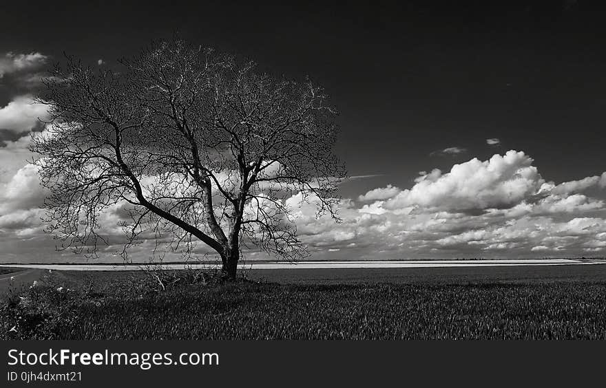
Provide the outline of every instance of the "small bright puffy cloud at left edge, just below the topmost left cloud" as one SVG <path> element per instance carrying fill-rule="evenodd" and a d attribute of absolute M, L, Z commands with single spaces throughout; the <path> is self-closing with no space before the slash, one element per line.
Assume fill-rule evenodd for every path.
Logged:
<path fill-rule="evenodd" d="M 0 129 L 16 133 L 32 131 L 40 125 L 40 120 L 48 118 L 47 107 L 34 103 L 33 96 L 17 96 L 8 105 L 0 108 Z"/>

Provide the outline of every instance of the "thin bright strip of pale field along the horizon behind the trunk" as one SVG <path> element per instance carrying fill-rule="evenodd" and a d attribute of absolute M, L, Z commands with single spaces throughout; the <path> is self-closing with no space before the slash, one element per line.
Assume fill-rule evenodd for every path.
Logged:
<path fill-rule="evenodd" d="M 501 267 L 501 266 L 570 266 L 603 264 L 606 259 L 540 259 L 540 260 L 425 260 L 425 261 L 298 261 L 240 263 L 242 269 L 286 270 L 286 269 L 339 269 L 339 268 L 447 268 L 447 267 Z M 125 271 L 143 270 L 149 266 L 143 264 L 6 264 L 12 268 L 37 268 L 43 270 L 70 271 Z M 215 263 L 190 263 L 189 268 L 213 268 Z M 179 270 L 184 264 L 163 264 L 163 269 Z"/>

